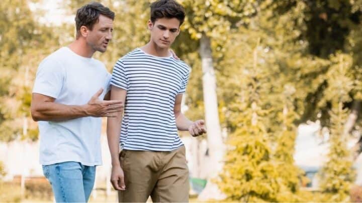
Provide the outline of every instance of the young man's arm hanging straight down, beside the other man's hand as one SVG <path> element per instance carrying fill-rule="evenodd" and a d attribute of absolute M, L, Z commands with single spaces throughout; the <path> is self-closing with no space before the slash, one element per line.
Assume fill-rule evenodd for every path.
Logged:
<path fill-rule="evenodd" d="M 125 102 L 127 90 L 112 86 L 111 100 L 119 100 Z M 115 189 L 125 190 L 124 173 L 119 161 L 119 138 L 121 134 L 123 112 L 117 112 L 115 117 L 107 120 L 107 138 L 108 146 L 111 152 L 112 175 L 111 182 Z"/>

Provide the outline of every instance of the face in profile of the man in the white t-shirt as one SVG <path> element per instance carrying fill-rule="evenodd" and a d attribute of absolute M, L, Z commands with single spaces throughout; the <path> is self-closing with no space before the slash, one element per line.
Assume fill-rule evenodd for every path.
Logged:
<path fill-rule="evenodd" d="M 100 15 L 99 21 L 93 26 L 92 31 L 88 30 L 86 37 L 87 44 L 91 46 L 94 51 L 104 53 L 112 40 L 112 32 L 113 20 Z"/>

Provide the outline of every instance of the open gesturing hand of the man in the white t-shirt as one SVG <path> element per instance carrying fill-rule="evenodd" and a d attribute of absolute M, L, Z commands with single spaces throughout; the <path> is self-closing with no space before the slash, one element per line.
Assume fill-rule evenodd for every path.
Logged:
<path fill-rule="evenodd" d="M 86 114 L 93 117 L 117 117 L 117 112 L 123 111 L 122 101 L 100 100 L 98 97 L 101 96 L 102 92 L 103 89 L 101 88 L 85 105 Z"/>

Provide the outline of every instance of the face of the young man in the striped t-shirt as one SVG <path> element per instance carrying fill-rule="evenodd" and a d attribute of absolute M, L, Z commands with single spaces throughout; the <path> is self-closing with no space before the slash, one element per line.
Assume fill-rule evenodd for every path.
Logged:
<path fill-rule="evenodd" d="M 176 18 L 156 19 L 154 23 L 148 21 L 151 41 L 161 49 L 168 49 L 179 34 L 179 23 Z"/>

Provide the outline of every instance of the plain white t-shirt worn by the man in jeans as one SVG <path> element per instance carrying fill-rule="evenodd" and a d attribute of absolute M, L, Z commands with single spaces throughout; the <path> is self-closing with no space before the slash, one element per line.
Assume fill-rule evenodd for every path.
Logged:
<path fill-rule="evenodd" d="M 93 58 L 62 47 L 39 65 L 33 93 L 55 98 L 56 103 L 84 105 L 101 88 L 103 100 L 111 75 Z M 101 118 L 82 117 L 66 121 L 39 121 L 40 163 L 49 165 L 76 161 L 83 165 L 102 164 Z"/>

